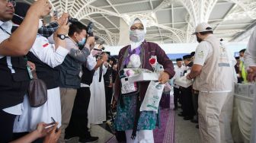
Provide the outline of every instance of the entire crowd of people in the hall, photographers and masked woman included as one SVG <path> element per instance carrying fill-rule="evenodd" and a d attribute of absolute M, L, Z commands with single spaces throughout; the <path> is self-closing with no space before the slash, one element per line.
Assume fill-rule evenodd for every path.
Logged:
<path fill-rule="evenodd" d="M 193 80 L 189 87 L 174 84 L 174 110 L 179 102 L 179 116 L 199 123 L 201 141 L 232 141 L 228 112 L 232 91 L 237 78 L 241 83 L 255 79 L 255 32 L 248 50 L 241 50 L 235 61 L 213 35 L 213 28 L 198 24 L 196 51 L 176 59 L 174 68 L 158 44 L 145 40 L 146 22 L 139 18 L 131 21 L 130 44 L 115 59 L 102 52 L 103 46 L 88 35 L 88 28 L 70 21 L 67 13 L 45 25 L 42 18 L 50 10 L 48 0 L 32 5 L 0 1 L 0 142 L 65 142 L 74 137 L 79 142 L 98 141 L 88 125 L 106 121 L 113 101 L 117 110 L 114 128 L 125 132 L 126 142 L 154 142 L 152 130 L 158 115 L 139 110 L 149 81 L 130 83 L 123 80 L 122 72 L 126 68 L 153 71 L 152 57 L 164 68 L 159 84 L 171 78 Z M 46 103 L 39 107 L 30 106 L 27 94 L 32 71 L 47 88 Z"/>

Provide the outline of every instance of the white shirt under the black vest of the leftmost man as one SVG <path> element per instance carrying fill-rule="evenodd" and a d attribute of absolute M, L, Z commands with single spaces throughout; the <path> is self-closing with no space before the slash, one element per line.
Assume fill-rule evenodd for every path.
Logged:
<path fill-rule="evenodd" d="M 11 21 L 6 21 L 6 22 L 2 22 L 0 21 L 0 26 L 6 30 L 8 33 L 11 33 L 11 27 L 12 27 L 12 23 Z M 10 37 L 10 35 L 6 33 L 5 31 L 3 31 L 2 29 L 0 29 L 0 43 L 2 43 L 4 40 L 8 39 Z M 0 55 L 0 59 L 2 59 L 5 56 Z M 10 56 L 8 56 L 10 59 Z M 11 68 L 11 71 L 14 71 L 14 69 L 12 69 L 12 65 L 10 66 L 11 62 L 8 63 L 8 67 Z M 11 106 L 8 108 L 3 109 L 3 111 L 5 111 L 6 113 L 10 113 L 13 115 L 21 115 L 22 113 L 22 103 L 19 103 L 18 105 L 15 106 Z"/>

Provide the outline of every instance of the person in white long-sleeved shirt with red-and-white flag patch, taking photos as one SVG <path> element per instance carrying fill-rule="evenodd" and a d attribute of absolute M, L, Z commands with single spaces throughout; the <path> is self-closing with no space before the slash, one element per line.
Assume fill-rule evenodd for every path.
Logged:
<path fill-rule="evenodd" d="M 12 21 L 19 25 L 23 22 L 21 17 L 27 14 L 30 5 L 19 2 L 16 7 L 18 9 L 15 14 L 18 17 L 13 17 Z M 30 132 L 36 129 L 38 122 L 51 122 L 51 117 L 59 122 L 59 126 L 61 125 L 59 73 L 54 67 L 60 65 L 69 53 L 65 41 L 61 38 L 61 35 L 66 35 L 69 32 L 67 21 L 68 17 L 63 17 L 62 24 L 54 33 L 55 45 L 50 44 L 45 37 L 37 34 L 34 45 L 27 53 L 26 58 L 37 67 L 37 78 L 46 84 L 47 100 L 42 106 L 31 107 L 29 98 L 25 96 L 23 113 L 15 119 L 13 132 Z"/>

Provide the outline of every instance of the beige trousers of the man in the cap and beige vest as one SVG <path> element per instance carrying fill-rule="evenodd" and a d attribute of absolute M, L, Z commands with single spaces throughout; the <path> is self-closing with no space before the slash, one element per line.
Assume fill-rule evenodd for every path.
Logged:
<path fill-rule="evenodd" d="M 227 93 L 205 93 L 200 92 L 198 97 L 198 118 L 199 118 L 199 130 L 200 140 L 202 143 L 221 143 L 224 138 L 220 132 L 220 127 L 227 128 L 229 126 L 230 133 L 230 122 L 226 124 L 223 122 L 224 104 L 230 103 L 229 96 L 230 92 Z M 222 123 L 220 123 L 220 120 Z M 225 119 L 227 121 L 230 119 Z M 224 125 L 225 124 L 225 125 Z M 224 134 L 224 133 L 223 133 Z M 231 135 L 231 133 L 230 133 Z M 224 139 L 225 140 L 225 139 Z"/>

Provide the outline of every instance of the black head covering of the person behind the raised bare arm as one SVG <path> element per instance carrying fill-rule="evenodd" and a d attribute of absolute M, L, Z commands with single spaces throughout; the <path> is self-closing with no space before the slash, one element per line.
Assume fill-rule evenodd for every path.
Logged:
<path fill-rule="evenodd" d="M 23 21 L 22 17 L 26 17 L 27 11 L 30 8 L 30 5 L 25 2 L 17 2 L 15 5 L 14 17 L 12 17 L 12 22 L 14 24 L 20 25 Z M 17 14 L 17 15 L 15 15 Z"/>

